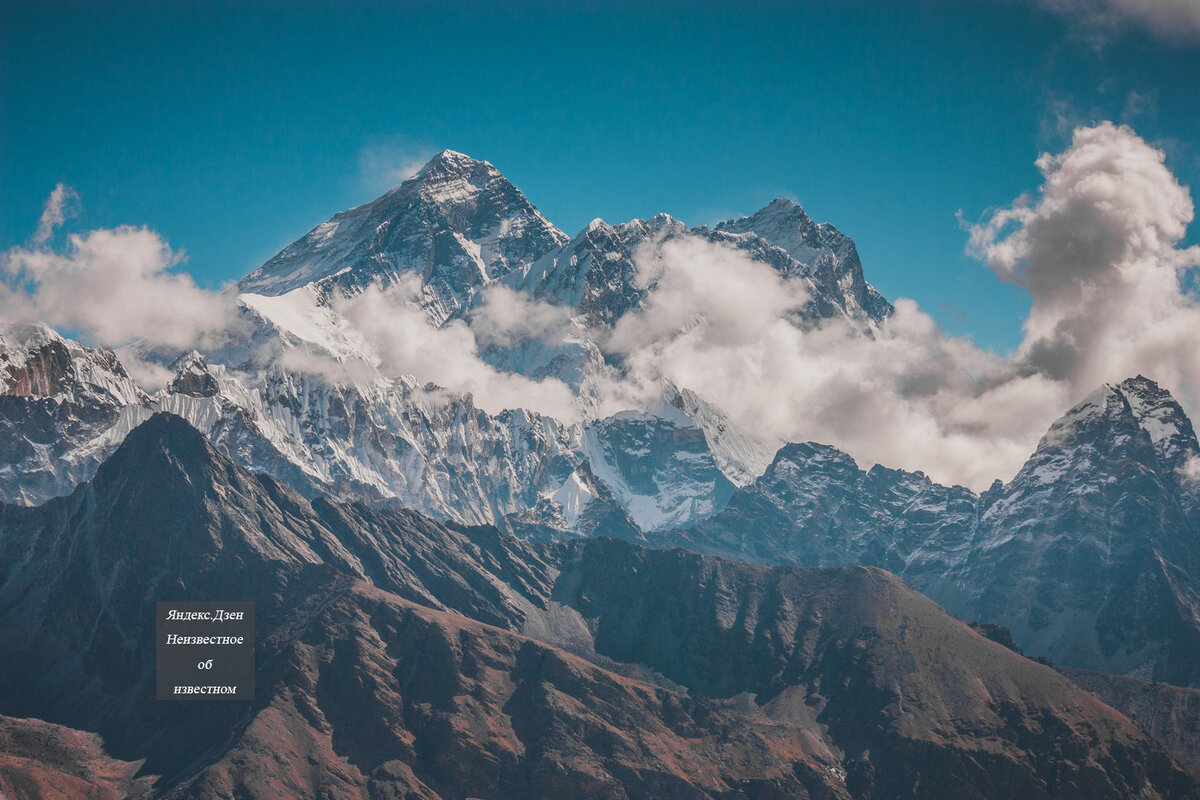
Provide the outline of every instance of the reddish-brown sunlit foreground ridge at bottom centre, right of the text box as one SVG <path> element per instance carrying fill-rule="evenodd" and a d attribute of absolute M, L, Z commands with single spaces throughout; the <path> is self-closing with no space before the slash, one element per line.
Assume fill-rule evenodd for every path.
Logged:
<path fill-rule="evenodd" d="M 286 688 L 170 796 L 846 796 L 725 704 L 361 583 L 298 612 L 266 645 Z"/>

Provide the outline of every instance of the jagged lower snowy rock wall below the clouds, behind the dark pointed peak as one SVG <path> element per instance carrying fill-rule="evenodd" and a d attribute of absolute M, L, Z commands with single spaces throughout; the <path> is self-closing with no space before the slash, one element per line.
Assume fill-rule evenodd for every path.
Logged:
<path fill-rule="evenodd" d="M 281 336 L 277 361 L 287 362 L 293 353 L 338 351 L 347 344 L 341 329 L 325 325 L 331 318 L 312 305 L 308 289 L 296 293 L 266 302 L 246 299 L 264 324 L 299 331 L 272 329 Z M 32 504 L 70 492 L 156 410 L 184 417 L 235 461 L 302 492 L 392 501 L 462 523 L 518 517 L 548 500 L 559 509 L 556 527 L 563 533 L 600 525 L 600 517 L 619 518 L 626 501 L 646 525 L 689 524 L 720 507 L 731 489 L 703 432 L 667 404 L 659 416 L 624 414 L 580 427 L 522 409 L 490 415 L 469 396 L 377 372 L 347 381 L 278 363 L 230 369 L 197 351 L 173 368 L 174 378 L 151 397 L 136 392 L 131 381 L 133 393 L 126 397 L 80 395 L 74 415 L 91 420 L 90 426 L 79 432 L 47 426 L 50 440 L 25 458 L 11 458 L 0 473 L 6 499 Z M 23 416 L 24 410 L 6 415 L 11 447 L 29 445 L 28 432 L 16 425 Z M 54 468 L 52 444 L 74 469 Z M 589 471 L 589 461 L 604 477 Z M 599 495 L 602 509 L 592 511 Z"/>

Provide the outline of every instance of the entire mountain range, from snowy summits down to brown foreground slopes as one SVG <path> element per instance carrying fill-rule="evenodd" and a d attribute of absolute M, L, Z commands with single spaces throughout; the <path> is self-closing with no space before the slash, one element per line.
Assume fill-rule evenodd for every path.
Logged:
<path fill-rule="evenodd" d="M 0 792 L 1200 796 L 1198 727 L 1163 711 L 1200 687 L 1170 392 L 1098 387 L 982 493 L 667 381 L 601 410 L 672 241 L 769 266 L 800 326 L 894 313 L 791 200 L 571 237 L 443 151 L 246 276 L 203 353 L 0 329 Z M 395 374 L 348 311 L 372 293 L 571 417 Z M 556 327 L 488 337 L 496 297 Z M 166 597 L 257 601 L 251 706 L 150 699 Z"/>

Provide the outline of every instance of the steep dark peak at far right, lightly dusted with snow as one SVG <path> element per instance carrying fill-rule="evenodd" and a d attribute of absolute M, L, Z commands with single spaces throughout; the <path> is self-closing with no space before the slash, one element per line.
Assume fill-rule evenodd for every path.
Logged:
<path fill-rule="evenodd" d="M 972 557 L 931 594 L 1055 663 L 1200 681 L 1200 530 L 1180 473 L 1196 452 L 1156 384 L 1102 387 L 985 501 Z"/>

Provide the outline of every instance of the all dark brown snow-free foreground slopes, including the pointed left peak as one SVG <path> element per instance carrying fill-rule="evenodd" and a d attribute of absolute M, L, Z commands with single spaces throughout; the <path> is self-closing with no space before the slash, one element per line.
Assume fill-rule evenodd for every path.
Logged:
<path fill-rule="evenodd" d="M 257 603 L 257 698 L 149 699 L 152 603 L 214 597 Z M 71 497 L 0 510 L 0 711 L 98 732 L 167 796 L 1198 792 L 886 572 L 310 503 L 166 415 Z"/>

